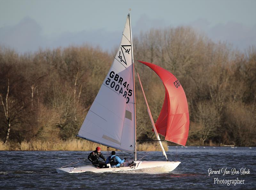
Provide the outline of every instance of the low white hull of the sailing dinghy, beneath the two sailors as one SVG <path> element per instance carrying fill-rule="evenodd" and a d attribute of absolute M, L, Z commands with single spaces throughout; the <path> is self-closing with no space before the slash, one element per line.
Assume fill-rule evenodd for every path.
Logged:
<path fill-rule="evenodd" d="M 82 172 L 126 172 L 126 171 L 138 171 L 141 173 L 164 173 L 174 170 L 180 162 L 170 162 L 170 161 L 136 161 L 134 164 L 129 166 L 129 163 L 125 162 L 124 167 L 120 168 L 97 168 L 93 165 L 89 166 L 78 166 L 69 168 L 57 168 L 58 173 L 82 173 Z"/>

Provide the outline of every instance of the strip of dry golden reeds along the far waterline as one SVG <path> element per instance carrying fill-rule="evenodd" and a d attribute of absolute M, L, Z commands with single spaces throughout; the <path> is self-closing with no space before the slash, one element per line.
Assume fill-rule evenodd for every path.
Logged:
<path fill-rule="evenodd" d="M 157 146 L 158 142 L 155 143 L 142 143 L 137 145 L 137 151 L 161 151 L 161 147 Z M 97 146 L 101 147 L 102 151 L 106 151 L 107 147 L 93 143 L 87 140 L 67 140 L 67 141 L 52 141 L 52 142 L 43 142 L 43 141 L 31 141 L 31 142 L 21 142 L 14 143 L 9 142 L 4 144 L 0 141 L 0 151 L 3 150 L 21 150 L 21 151 L 77 151 L 77 146 L 79 151 L 92 151 L 95 150 Z M 157 147 L 156 147 L 157 146 Z M 167 142 L 163 142 L 165 151 L 168 150 Z M 116 150 L 109 148 L 109 150 Z"/>

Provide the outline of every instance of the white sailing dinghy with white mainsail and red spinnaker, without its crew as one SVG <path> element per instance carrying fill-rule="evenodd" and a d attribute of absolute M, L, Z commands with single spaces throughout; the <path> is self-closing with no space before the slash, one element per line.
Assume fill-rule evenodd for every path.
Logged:
<path fill-rule="evenodd" d="M 130 14 L 128 14 L 121 44 L 114 57 L 113 64 L 84 119 L 77 137 L 131 153 L 133 161 L 124 162 L 124 166 L 120 168 L 100 169 L 93 165 L 61 167 L 56 169 L 58 173 L 81 173 L 86 171 L 101 173 L 137 170 L 142 172 L 148 170 L 170 172 L 180 164 L 179 161 L 172 162 L 167 159 L 159 134 L 163 135 L 167 141 L 185 146 L 189 130 L 188 103 L 185 92 L 178 79 L 169 71 L 152 63 L 139 62 L 155 71 L 165 87 L 164 104 L 155 123 L 148 107 L 139 73 L 137 73 L 153 126 L 152 131 L 156 134 L 166 161 L 137 160 L 135 76 L 131 20 Z"/>

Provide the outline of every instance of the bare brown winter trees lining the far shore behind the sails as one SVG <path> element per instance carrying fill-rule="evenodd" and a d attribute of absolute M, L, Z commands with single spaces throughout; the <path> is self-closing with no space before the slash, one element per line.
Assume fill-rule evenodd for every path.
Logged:
<path fill-rule="evenodd" d="M 188 145 L 256 145 L 255 46 L 233 50 L 189 27 L 151 29 L 135 37 L 133 46 L 135 60 L 165 68 L 182 84 L 190 116 Z M 88 45 L 22 55 L 1 47 L 1 140 L 74 138 L 112 61 L 110 53 Z M 135 67 L 156 121 L 164 86 L 146 66 L 135 61 Z M 155 139 L 137 80 L 135 88 L 137 139 Z"/>

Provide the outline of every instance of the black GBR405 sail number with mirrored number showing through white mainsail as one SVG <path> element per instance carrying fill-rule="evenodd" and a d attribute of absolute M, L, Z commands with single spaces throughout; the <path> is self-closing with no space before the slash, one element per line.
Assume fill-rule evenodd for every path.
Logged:
<path fill-rule="evenodd" d="M 119 94 L 122 94 L 123 97 L 126 99 L 126 104 L 129 103 L 129 96 L 132 96 L 132 90 L 129 89 L 129 83 L 124 81 L 124 79 L 118 74 L 115 74 L 114 71 L 111 71 L 109 73 L 109 77 L 110 78 L 107 78 L 107 80 L 105 81 L 105 84 L 107 84 L 107 86 L 110 86 L 116 92 L 119 92 Z"/>

